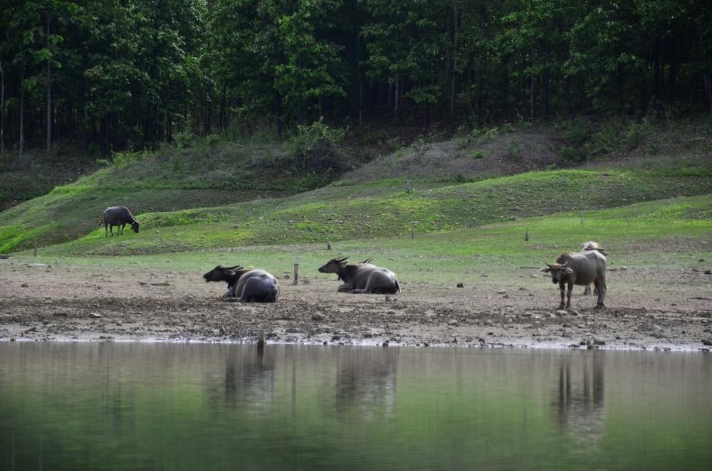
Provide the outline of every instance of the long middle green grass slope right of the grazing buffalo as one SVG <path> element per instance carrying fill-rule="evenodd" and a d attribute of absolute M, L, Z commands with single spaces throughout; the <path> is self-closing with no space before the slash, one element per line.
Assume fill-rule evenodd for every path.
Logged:
<path fill-rule="evenodd" d="M 671 177 L 650 171 L 541 171 L 412 191 L 406 191 L 399 181 L 334 185 L 286 199 L 147 212 L 140 218 L 139 234 L 105 238 L 103 228 L 95 228 L 70 243 L 44 250 L 64 255 L 135 255 L 241 245 L 397 238 L 411 231 L 419 235 L 438 232 L 438 227 L 442 231 L 455 231 L 562 211 L 575 211 L 572 218 L 580 221 L 580 211 L 711 192 L 712 179 L 708 176 Z M 151 198 L 156 201 L 160 195 L 161 192 L 154 191 Z M 229 194 L 225 196 L 229 198 Z M 42 199 L 53 197 L 63 201 L 56 192 Z M 188 198 L 184 196 L 178 201 L 199 203 Z M 80 208 L 91 204 L 85 201 Z M 165 204 L 168 206 L 169 202 Z M 655 204 L 651 203 L 651 207 Z M 80 208 L 75 211 L 80 212 Z M 100 209 L 97 207 L 96 211 Z M 26 216 L 31 217 L 31 211 Z M 585 219 L 590 217 L 586 215 Z M 0 233 L 0 240 L 7 240 L 4 243 L 8 247 L 14 244 L 22 248 L 16 236 L 2 237 Z M 5 251 L 6 245 L 3 245 Z"/>

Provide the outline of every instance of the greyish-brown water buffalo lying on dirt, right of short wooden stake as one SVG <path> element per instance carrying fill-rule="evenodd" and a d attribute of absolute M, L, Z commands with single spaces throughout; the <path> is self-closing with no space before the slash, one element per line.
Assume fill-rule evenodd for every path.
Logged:
<path fill-rule="evenodd" d="M 319 268 L 320 273 L 336 273 L 343 284 L 338 292 L 377 293 L 392 295 L 400 292 L 394 272 L 370 263 L 347 263 L 348 257 L 333 258 Z M 365 260 L 369 262 L 370 259 Z"/>

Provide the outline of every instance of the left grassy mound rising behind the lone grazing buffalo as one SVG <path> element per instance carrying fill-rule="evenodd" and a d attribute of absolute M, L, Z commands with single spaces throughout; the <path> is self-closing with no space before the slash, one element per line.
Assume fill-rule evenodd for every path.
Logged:
<path fill-rule="evenodd" d="M 135 216 L 221 206 L 295 194 L 334 178 L 261 171 L 263 162 L 283 154 L 275 145 L 231 143 L 130 155 L 115 166 L 0 213 L 0 253 L 28 248 L 34 240 L 42 246 L 85 235 L 97 227 L 107 206 L 127 206 Z"/>

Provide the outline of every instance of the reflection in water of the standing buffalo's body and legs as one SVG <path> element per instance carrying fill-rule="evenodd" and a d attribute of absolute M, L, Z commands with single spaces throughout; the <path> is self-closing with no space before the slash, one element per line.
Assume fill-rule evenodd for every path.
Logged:
<path fill-rule="evenodd" d="M 599 446 L 605 432 L 605 354 L 593 351 L 583 356 L 563 356 L 559 365 L 553 404 L 556 423 L 576 443 L 590 450 Z"/>

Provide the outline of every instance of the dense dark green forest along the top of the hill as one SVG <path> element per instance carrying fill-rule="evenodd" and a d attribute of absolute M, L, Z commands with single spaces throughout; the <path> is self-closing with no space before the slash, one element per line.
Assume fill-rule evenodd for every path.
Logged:
<path fill-rule="evenodd" d="M 712 114 L 708 0 L 4 0 L 0 152 Z"/>

